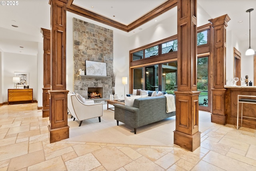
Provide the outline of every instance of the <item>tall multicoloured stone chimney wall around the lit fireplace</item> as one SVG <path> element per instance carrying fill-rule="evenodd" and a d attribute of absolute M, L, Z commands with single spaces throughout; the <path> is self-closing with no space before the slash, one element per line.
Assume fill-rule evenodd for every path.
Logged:
<path fill-rule="evenodd" d="M 112 94 L 113 30 L 73 18 L 73 53 L 74 92 L 89 99 L 90 88 L 97 88 L 101 98 L 91 99 L 104 103 Z M 80 76 L 79 69 L 86 74 L 86 60 L 106 63 L 106 76 Z"/>

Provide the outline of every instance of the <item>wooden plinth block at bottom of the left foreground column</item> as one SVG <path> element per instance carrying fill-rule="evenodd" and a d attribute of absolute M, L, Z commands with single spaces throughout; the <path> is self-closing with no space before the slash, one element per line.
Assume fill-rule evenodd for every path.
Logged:
<path fill-rule="evenodd" d="M 48 125 L 48 130 L 48 137 L 50 143 L 69 138 L 69 126 L 51 129 L 51 126 Z"/>

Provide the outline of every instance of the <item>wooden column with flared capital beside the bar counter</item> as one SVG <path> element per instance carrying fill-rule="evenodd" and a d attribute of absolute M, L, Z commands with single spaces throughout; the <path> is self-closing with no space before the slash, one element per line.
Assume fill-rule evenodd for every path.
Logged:
<path fill-rule="evenodd" d="M 228 14 L 210 19 L 213 28 L 213 88 L 212 88 L 212 115 L 211 121 L 225 125 L 226 82 L 226 27 L 230 20 Z"/>

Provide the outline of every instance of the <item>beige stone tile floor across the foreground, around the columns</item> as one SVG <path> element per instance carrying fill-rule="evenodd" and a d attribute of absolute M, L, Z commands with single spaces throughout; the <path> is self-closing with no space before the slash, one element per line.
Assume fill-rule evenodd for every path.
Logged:
<path fill-rule="evenodd" d="M 48 120 L 37 103 L 0 107 L 0 171 L 256 171 L 255 129 L 214 124 L 190 152 L 177 145 L 49 143 Z"/>

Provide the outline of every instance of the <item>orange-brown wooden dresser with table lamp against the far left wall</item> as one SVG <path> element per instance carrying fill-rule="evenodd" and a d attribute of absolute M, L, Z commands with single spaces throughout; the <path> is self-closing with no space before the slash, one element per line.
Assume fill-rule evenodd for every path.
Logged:
<path fill-rule="evenodd" d="M 8 89 L 8 105 L 10 103 L 33 103 L 33 89 Z"/>

